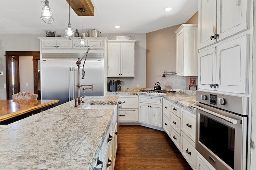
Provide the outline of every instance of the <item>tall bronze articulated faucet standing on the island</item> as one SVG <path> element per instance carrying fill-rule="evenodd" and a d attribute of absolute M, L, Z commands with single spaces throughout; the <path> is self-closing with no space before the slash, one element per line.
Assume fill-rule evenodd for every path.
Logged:
<path fill-rule="evenodd" d="M 84 59 L 84 63 L 86 61 L 86 57 L 87 57 L 87 54 L 88 54 L 89 50 L 90 50 L 90 48 L 88 48 L 86 53 L 84 54 L 85 59 L 84 59 L 84 56 L 82 57 L 82 59 Z M 81 60 L 78 59 L 78 61 L 76 62 L 76 65 L 78 66 L 78 85 L 76 85 L 78 87 L 78 98 L 77 98 L 77 100 L 75 100 L 75 107 L 77 106 L 76 104 L 80 105 L 81 102 L 83 103 L 82 98 L 84 98 L 84 96 L 85 96 L 84 95 L 82 98 L 80 97 L 80 87 L 82 87 L 82 86 L 91 86 L 91 88 L 82 88 L 82 90 L 86 90 L 86 89 L 93 90 L 93 85 L 81 85 L 80 84 L 80 64 L 81 64 L 82 59 Z M 84 64 L 83 64 L 82 68 L 83 68 L 82 69 L 82 79 L 84 79 L 84 75 L 85 75 Z"/>

